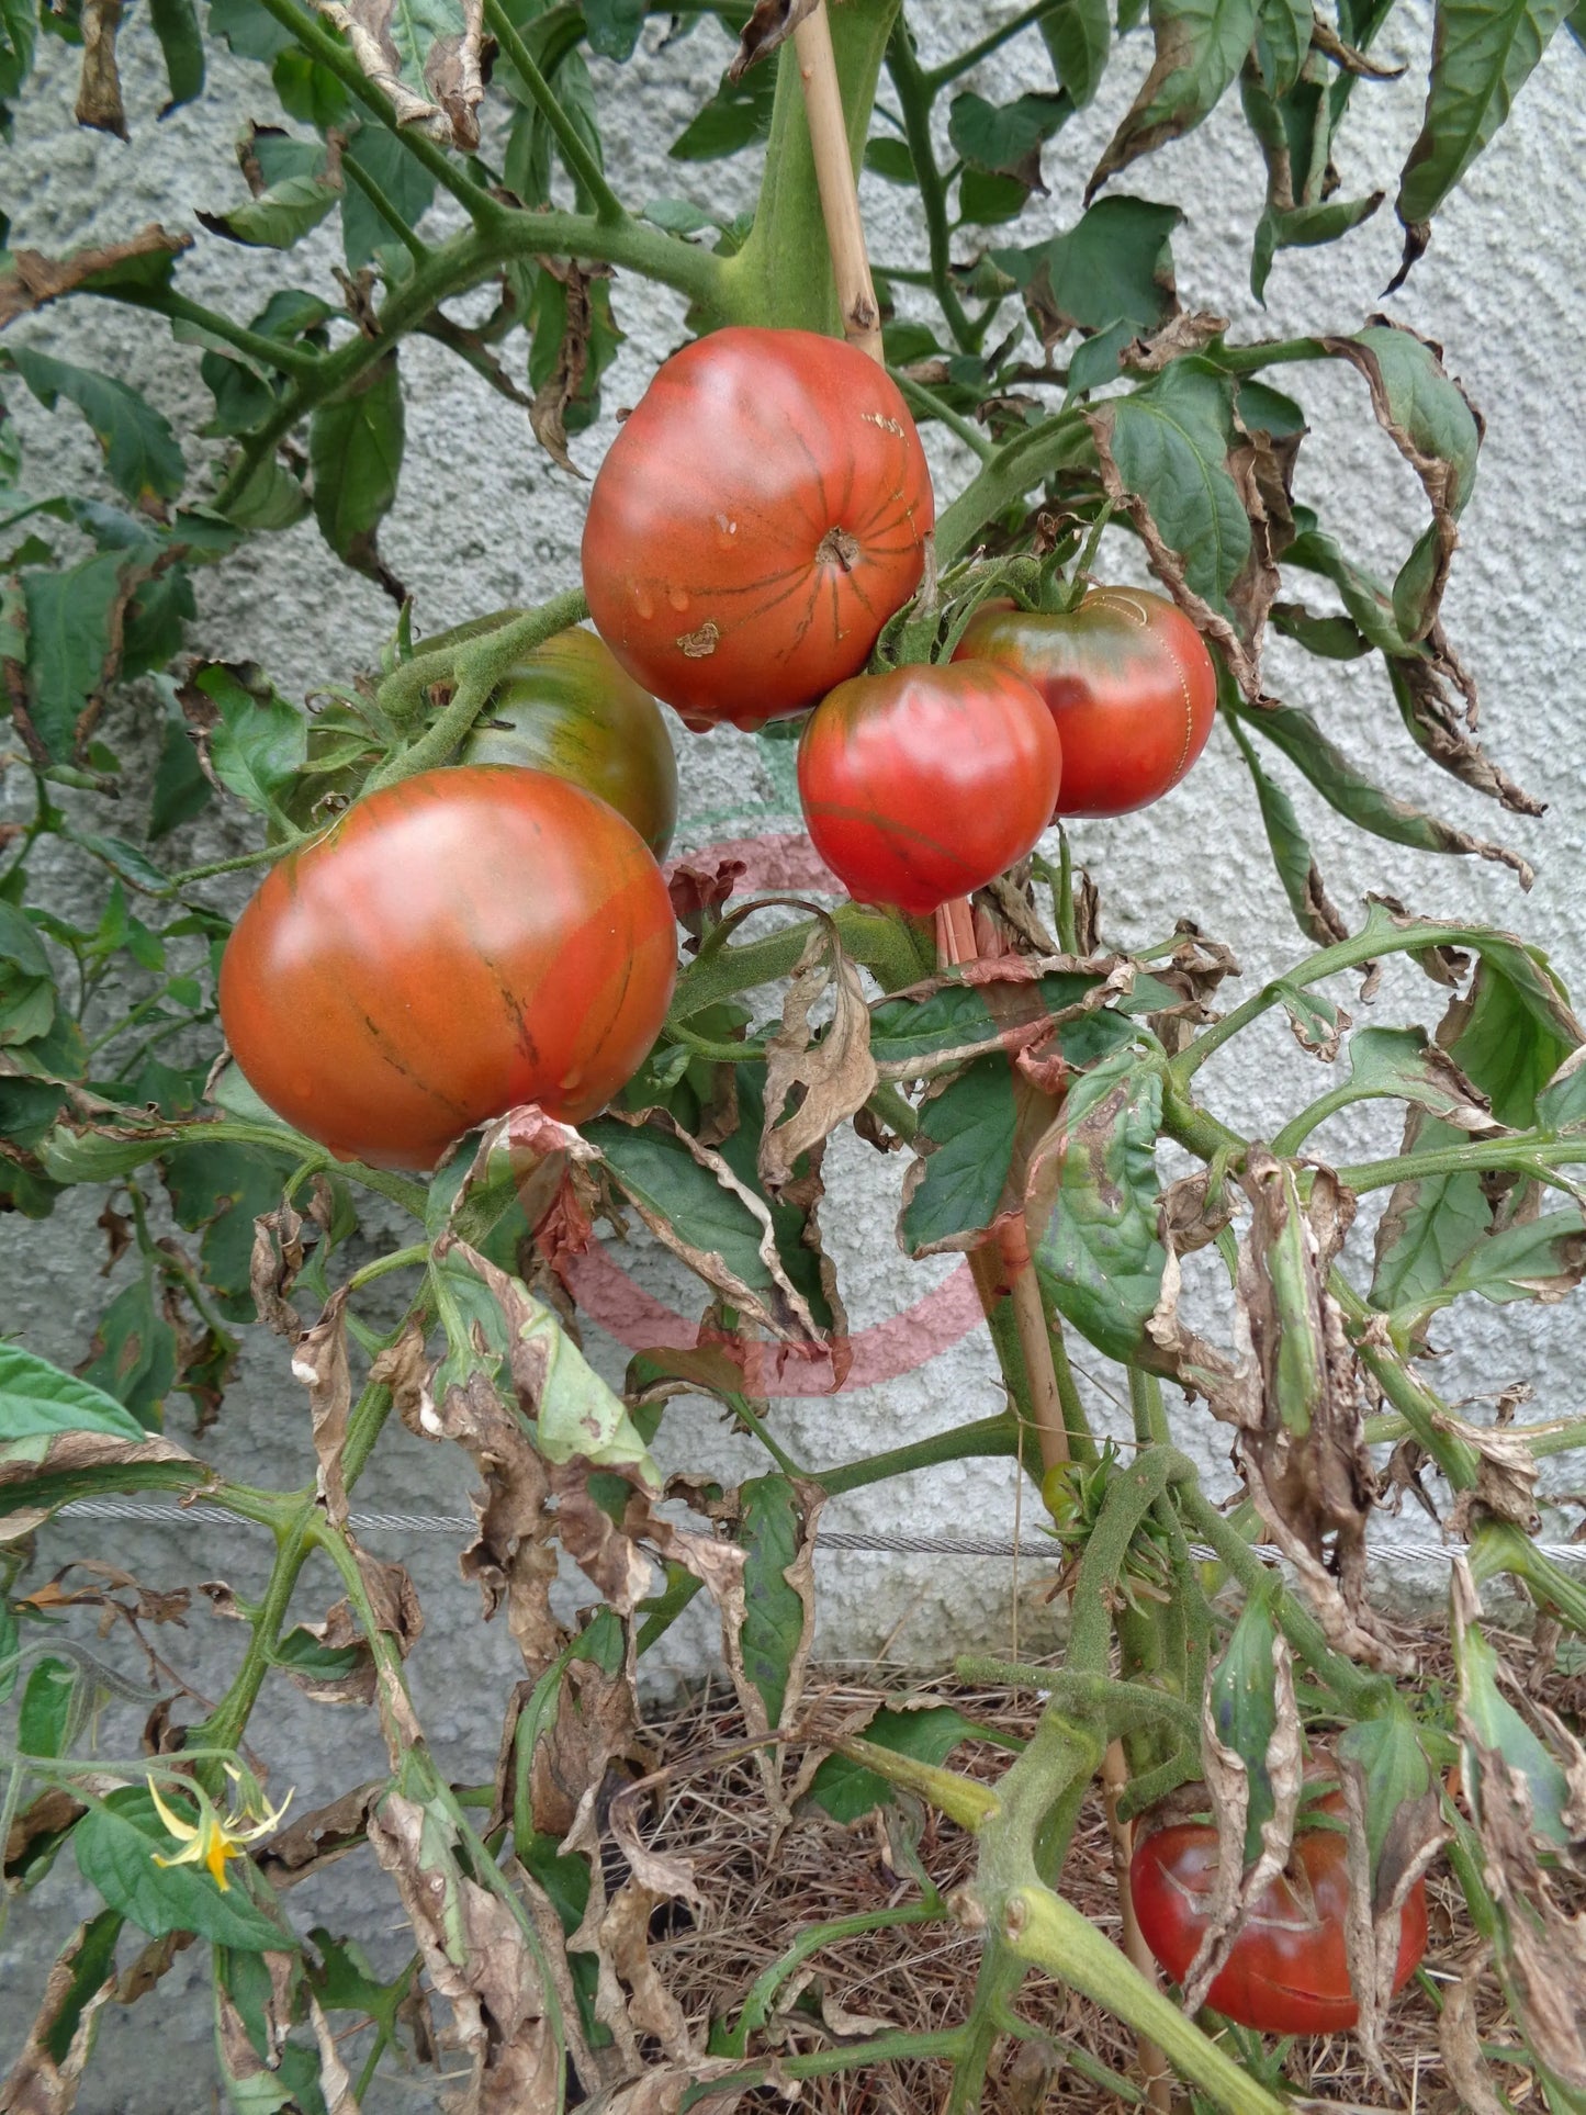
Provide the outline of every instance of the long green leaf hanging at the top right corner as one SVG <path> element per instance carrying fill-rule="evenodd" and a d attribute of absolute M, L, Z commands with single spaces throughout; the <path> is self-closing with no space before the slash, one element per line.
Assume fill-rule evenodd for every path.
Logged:
<path fill-rule="evenodd" d="M 1398 218 L 1423 228 L 1510 114 L 1569 0 L 1438 0 L 1425 121 L 1408 152 Z"/>

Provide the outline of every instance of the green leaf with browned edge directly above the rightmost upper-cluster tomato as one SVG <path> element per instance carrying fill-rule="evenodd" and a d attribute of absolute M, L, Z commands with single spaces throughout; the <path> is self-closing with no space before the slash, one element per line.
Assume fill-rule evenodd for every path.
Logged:
<path fill-rule="evenodd" d="M 1174 360 L 1142 389 L 1110 398 L 1091 423 L 1125 491 L 1144 501 L 1186 586 L 1231 615 L 1250 560 L 1250 516 L 1229 476 L 1233 387 L 1199 360 Z"/>

